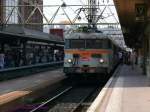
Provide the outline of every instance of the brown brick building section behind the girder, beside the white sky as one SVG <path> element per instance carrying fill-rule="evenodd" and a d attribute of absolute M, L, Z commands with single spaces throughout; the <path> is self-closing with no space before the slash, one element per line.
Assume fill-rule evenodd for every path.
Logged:
<path fill-rule="evenodd" d="M 41 7 L 39 7 L 39 8 L 40 8 L 41 12 L 43 12 L 43 7 L 42 7 L 43 0 L 20 0 L 19 5 L 26 5 L 26 6 L 19 7 L 19 10 L 21 12 L 22 18 L 24 20 L 28 20 L 29 25 L 25 25 L 26 28 L 43 31 L 43 25 L 42 25 L 43 16 L 41 15 L 41 13 L 38 9 L 36 9 L 34 11 L 34 13 L 32 14 L 32 16 L 29 18 L 29 16 L 31 15 L 32 11 L 35 8 L 35 6 L 33 6 L 34 4 L 41 5 Z M 19 19 L 19 21 L 21 22 L 20 19 Z M 30 25 L 30 23 L 32 23 L 32 25 Z M 39 25 L 39 24 L 41 24 L 41 25 Z"/>

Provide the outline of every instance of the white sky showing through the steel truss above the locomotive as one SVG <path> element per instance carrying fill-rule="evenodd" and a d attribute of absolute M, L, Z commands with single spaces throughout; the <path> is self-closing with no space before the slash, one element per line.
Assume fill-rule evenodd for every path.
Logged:
<path fill-rule="evenodd" d="M 63 1 L 67 5 L 83 5 L 83 4 L 87 4 L 88 0 L 44 0 L 44 5 L 61 5 L 63 3 Z M 97 1 L 99 1 L 100 5 L 113 4 L 112 0 L 97 0 Z M 109 1 L 109 2 L 107 3 L 107 1 Z M 68 6 L 65 8 L 66 13 L 69 16 L 69 18 L 71 18 L 71 20 L 73 20 L 73 18 L 77 15 L 76 13 L 77 13 L 79 8 L 81 8 L 81 7 Z M 104 6 L 101 6 L 99 8 L 101 10 L 103 10 Z M 52 16 L 54 15 L 54 13 L 56 12 L 57 9 L 58 9 L 58 7 L 45 7 L 44 13 L 45 13 L 46 17 L 50 19 L 50 18 L 52 18 Z M 118 21 L 115 7 L 111 6 L 111 7 L 107 7 L 105 9 L 103 16 L 105 16 L 107 18 L 105 18 L 105 20 L 101 20 L 101 22 L 103 22 L 103 23 L 105 23 L 105 22 L 116 22 L 116 19 L 114 18 L 114 16 L 109 15 L 109 17 L 108 17 L 108 13 L 111 13 L 110 11 L 112 11 L 114 13 L 115 18 L 117 18 L 117 21 Z M 85 19 L 85 16 L 83 13 L 81 13 L 81 17 L 82 17 L 81 22 L 86 22 L 86 19 Z M 61 21 L 65 21 L 65 20 L 68 20 L 68 19 L 64 15 L 64 12 L 60 9 L 56 18 L 54 19 L 54 22 L 61 22 Z"/>

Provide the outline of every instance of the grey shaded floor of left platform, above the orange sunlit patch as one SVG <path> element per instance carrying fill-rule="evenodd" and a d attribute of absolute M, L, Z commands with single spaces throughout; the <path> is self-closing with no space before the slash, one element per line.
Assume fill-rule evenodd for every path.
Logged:
<path fill-rule="evenodd" d="M 32 91 L 32 88 L 64 78 L 61 69 L 0 82 L 0 96 L 14 91 Z"/>

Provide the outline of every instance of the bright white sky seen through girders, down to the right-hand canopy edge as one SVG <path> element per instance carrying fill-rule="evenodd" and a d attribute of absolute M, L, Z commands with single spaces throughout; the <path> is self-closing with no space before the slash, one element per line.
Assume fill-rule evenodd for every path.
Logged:
<path fill-rule="evenodd" d="M 79 8 L 81 7 L 77 7 L 77 6 L 71 7 L 69 5 L 83 5 L 83 4 L 87 4 L 87 1 L 88 0 L 44 0 L 44 5 L 45 5 L 43 9 L 44 14 L 50 20 L 52 16 L 55 14 L 58 7 L 48 7 L 48 6 L 46 7 L 46 5 L 61 5 L 63 2 L 65 2 L 68 6 L 64 10 L 66 11 L 69 18 L 73 20 L 75 16 L 77 15 Z M 104 5 L 104 4 L 114 5 L 113 0 L 97 0 L 97 1 L 99 1 L 98 4 L 100 5 Z M 100 6 L 98 14 L 101 14 L 104 8 L 105 6 Z M 80 16 L 82 19 L 80 21 L 77 21 L 77 23 L 87 23 L 87 19 L 85 18 L 84 13 L 81 13 Z M 103 16 L 104 16 L 104 19 L 100 19 L 99 23 L 117 23 L 117 22 L 119 23 L 119 19 L 118 19 L 115 6 L 107 6 L 106 9 L 104 10 Z M 66 15 L 64 14 L 64 12 L 60 9 L 53 23 L 62 23 L 64 21 L 68 21 L 68 19 Z M 108 26 L 104 26 L 104 28 L 105 27 L 108 27 Z M 120 29 L 120 26 L 118 26 L 117 28 Z M 122 41 L 121 44 L 123 44 L 124 46 L 125 43 L 124 43 L 123 36 L 118 37 L 118 39 L 120 39 L 119 40 L 120 42 Z"/>

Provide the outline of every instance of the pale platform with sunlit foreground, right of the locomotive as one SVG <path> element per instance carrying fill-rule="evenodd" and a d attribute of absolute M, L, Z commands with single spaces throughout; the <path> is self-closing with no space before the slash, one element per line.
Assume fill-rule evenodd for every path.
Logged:
<path fill-rule="evenodd" d="M 150 79 L 140 67 L 122 65 L 88 112 L 150 112 Z"/>

